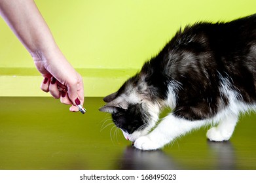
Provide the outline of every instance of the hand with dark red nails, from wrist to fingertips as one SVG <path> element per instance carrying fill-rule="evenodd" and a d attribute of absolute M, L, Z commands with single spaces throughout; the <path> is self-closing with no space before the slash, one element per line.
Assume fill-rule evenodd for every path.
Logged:
<path fill-rule="evenodd" d="M 33 52 L 31 56 L 37 70 L 44 77 L 41 90 L 50 92 L 52 97 L 60 99 L 61 103 L 72 105 L 70 111 L 79 111 L 77 102 L 80 101 L 81 105 L 84 103 L 82 76 L 75 71 L 63 54 L 58 51 L 54 56 L 45 56 L 40 52 Z"/>

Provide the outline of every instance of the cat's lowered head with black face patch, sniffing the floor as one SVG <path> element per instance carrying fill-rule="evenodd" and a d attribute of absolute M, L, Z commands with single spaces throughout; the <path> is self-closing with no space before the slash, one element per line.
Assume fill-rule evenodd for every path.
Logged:
<path fill-rule="evenodd" d="M 138 75 L 127 80 L 115 93 L 103 99 L 102 112 L 112 114 L 113 122 L 130 141 L 146 135 L 158 120 L 159 107 L 151 99 L 153 93 Z"/>

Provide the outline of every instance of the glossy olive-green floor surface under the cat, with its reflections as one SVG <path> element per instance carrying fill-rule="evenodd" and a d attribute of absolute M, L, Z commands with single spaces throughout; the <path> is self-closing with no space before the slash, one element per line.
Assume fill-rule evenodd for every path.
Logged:
<path fill-rule="evenodd" d="M 0 97 L 0 169 L 256 169 L 256 115 L 240 117 L 228 142 L 209 142 L 204 127 L 162 150 L 131 146 L 99 97 L 86 114 L 51 97 Z"/>

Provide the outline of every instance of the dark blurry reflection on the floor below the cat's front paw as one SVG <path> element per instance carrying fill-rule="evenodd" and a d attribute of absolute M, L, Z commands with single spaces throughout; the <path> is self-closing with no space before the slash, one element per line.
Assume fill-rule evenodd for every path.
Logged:
<path fill-rule="evenodd" d="M 119 169 L 179 169 L 170 156 L 162 150 L 142 151 L 132 146 L 124 150 Z"/>

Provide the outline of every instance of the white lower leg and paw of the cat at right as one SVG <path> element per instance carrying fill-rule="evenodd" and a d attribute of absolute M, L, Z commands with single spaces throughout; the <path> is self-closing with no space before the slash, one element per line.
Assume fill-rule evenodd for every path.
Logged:
<path fill-rule="evenodd" d="M 217 127 L 211 127 L 211 129 L 206 133 L 206 136 L 210 141 L 229 141 L 237 122 L 237 115 L 234 114 L 234 116 L 226 116 L 221 120 L 221 122 L 219 122 Z"/>

